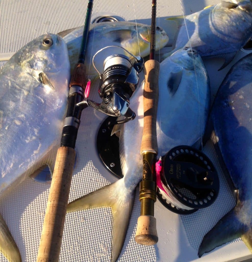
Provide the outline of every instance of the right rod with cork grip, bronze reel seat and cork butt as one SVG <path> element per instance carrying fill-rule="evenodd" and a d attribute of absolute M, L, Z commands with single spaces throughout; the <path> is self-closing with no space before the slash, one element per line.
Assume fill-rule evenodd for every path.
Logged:
<path fill-rule="evenodd" d="M 141 213 L 135 241 L 143 245 L 158 242 L 154 203 L 156 202 L 155 163 L 158 153 L 157 145 L 157 107 L 159 62 L 155 60 L 156 44 L 156 0 L 152 0 L 150 59 L 144 64 L 144 129 L 140 154 L 143 157 L 143 178 L 140 182 L 139 200 Z"/>

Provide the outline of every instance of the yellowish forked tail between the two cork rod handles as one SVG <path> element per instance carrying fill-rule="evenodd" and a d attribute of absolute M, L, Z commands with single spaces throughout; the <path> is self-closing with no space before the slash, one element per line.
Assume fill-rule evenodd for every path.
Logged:
<path fill-rule="evenodd" d="M 111 262 L 115 262 L 121 253 L 135 199 L 135 190 L 126 193 L 123 180 L 119 179 L 113 184 L 78 198 L 67 206 L 67 212 L 111 207 L 113 217 Z"/>

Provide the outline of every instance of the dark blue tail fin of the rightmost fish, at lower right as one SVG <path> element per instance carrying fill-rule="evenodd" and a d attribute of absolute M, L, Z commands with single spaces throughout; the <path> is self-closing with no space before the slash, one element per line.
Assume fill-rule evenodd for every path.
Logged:
<path fill-rule="evenodd" d="M 233 239 L 244 236 L 252 247 L 251 233 L 252 228 L 250 227 L 249 232 L 245 232 L 244 223 L 241 221 L 242 216 L 242 204 L 239 202 L 237 205 L 228 212 L 224 217 L 217 222 L 217 224 L 203 237 L 201 245 L 199 246 L 198 256 L 201 257 L 204 253 L 208 253 L 216 247 L 223 245 Z M 248 235 L 250 234 L 250 239 Z M 245 242 L 245 241 L 244 241 Z M 245 242 L 246 244 L 246 242 Z M 247 245 L 247 244 L 246 244 Z M 248 245 L 247 245 L 248 246 Z"/>

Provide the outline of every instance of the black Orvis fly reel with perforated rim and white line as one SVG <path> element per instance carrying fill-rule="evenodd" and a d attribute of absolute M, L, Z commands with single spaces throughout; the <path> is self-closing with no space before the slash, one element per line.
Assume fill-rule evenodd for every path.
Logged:
<path fill-rule="evenodd" d="M 191 146 L 177 146 L 162 157 L 162 188 L 157 197 L 177 214 L 191 214 L 213 204 L 219 178 L 210 159 Z"/>

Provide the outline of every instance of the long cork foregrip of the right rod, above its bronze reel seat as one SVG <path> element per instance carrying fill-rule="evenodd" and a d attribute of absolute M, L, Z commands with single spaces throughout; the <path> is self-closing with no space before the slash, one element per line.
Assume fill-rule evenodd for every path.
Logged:
<path fill-rule="evenodd" d="M 148 60 L 144 64 L 144 131 L 140 154 L 145 151 L 158 152 L 157 145 L 157 107 L 159 62 Z"/>

